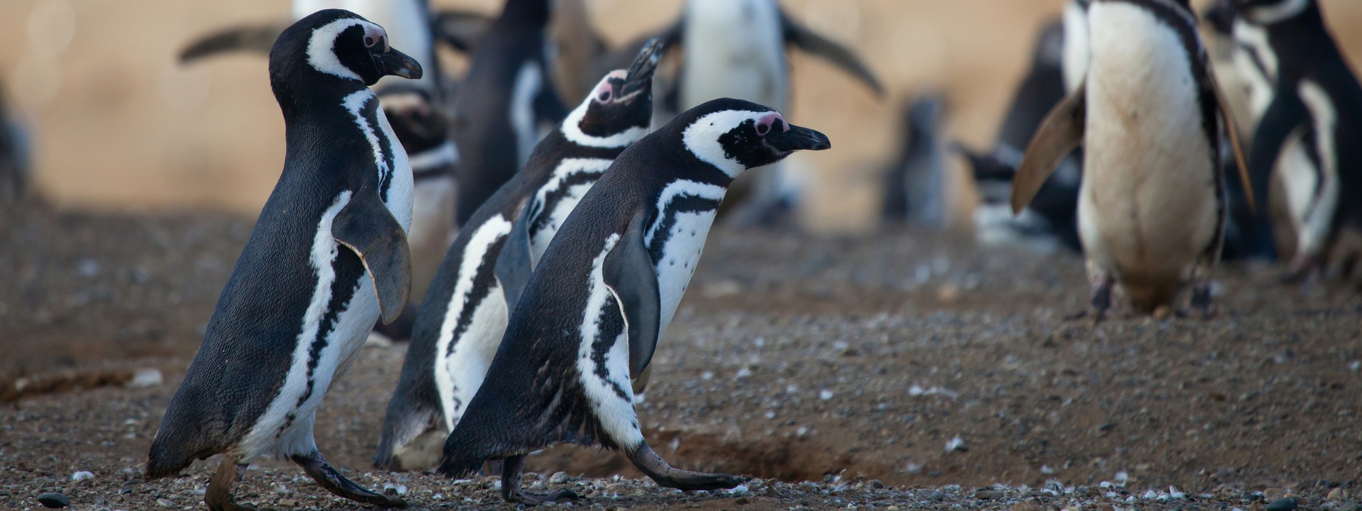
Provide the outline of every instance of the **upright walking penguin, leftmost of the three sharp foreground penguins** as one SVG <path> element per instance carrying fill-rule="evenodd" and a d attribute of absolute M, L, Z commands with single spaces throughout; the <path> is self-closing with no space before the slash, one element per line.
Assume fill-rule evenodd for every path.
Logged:
<path fill-rule="evenodd" d="M 212 510 L 249 508 L 233 493 L 259 456 L 289 458 L 338 496 L 406 506 L 340 476 L 312 436 L 327 388 L 410 289 L 411 168 L 368 87 L 387 75 L 414 79 L 421 67 L 342 10 L 298 20 L 270 52 L 283 172 L 147 459 L 158 478 L 225 454 L 204 495 Z"/>

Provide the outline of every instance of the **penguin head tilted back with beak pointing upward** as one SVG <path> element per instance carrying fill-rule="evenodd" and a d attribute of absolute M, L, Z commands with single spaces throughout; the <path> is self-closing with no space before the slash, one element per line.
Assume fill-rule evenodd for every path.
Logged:
<path fill-rule="evenodd" d="M 590 147 L 624 147 L 648 134 L 652 120 L 652 72 L 662 41 L 651 40 L 628 69 L 605 75 L 563 121 L 569 140 Z"/>

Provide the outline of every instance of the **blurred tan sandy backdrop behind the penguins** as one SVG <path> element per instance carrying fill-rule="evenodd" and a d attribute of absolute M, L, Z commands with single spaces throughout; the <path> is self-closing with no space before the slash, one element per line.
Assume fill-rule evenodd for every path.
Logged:
<path fill-rule="evenodd" d="M 496 0 L 433 0 L 496 12 Z M 786 0 L 798 18 L 858 48 L 888 86 L 874 98 L 829 65 L 793 53 L 794 123 L 834 150 L 801 155 L 813 185 L 806 225 L 874 225 L 880 168 L 896 149 L 903 98 L 940 91 L 947 129 L 992 144 L 1030 61 L 1041 23 L 1061 0 Z M 670 23 L 681 0 L 591 0 L 602 33 L 622 42 Z M 1362 1 L 1325 0 L 1357 68 Z M 227 56 L 181 68 L 192 37 L 286 16 L 287 0 L 4 0 L 0 78 L 34 131 L 37 188 L 61 207 L 222 208 L 253 215 L 278 179 L 283 123 L 266 61 Z M 959 165 L 956 162 L 956 165 Z M 970 189 L 956 210 L 967 211 Z"/>

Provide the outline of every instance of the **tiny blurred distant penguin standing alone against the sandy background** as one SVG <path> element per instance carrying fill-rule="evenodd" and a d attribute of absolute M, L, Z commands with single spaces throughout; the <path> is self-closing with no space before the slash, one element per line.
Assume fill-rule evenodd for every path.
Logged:
<path fill-rule="evenodd" d="M 945 102 L 928 97 L 903 108 L 903 153 L 885 172 L 883 218 L 941 229 L 949 207 L 941 116 Z"/>

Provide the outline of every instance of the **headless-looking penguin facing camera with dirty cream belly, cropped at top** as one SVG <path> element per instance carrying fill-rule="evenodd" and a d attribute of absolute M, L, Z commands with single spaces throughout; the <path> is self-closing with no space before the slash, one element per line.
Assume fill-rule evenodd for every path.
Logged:
<path fill-rule="evenodd" d="M 1117 283 L 1143 312 L 1192 283 L 1192 308 L 1209 313 L 1227 217 L 1222 154 L 1242 158 L 1196 18 L 1186 0 L 1095 0 L 1087 18 L 1087 75 L 1027 146 L 1012 208 L 1081 143 L 1079 236 L 1095 318 L 1110 313 Z"/>

